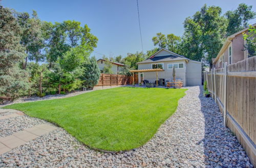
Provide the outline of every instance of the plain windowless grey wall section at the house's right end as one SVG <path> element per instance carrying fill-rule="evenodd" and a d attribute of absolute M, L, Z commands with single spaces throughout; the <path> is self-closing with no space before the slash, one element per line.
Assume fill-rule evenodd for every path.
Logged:
<path fill-rule="evenodd" d="M 202 63 L 189 61 L 186 66 L 186 85 L 202 85 Z"/>

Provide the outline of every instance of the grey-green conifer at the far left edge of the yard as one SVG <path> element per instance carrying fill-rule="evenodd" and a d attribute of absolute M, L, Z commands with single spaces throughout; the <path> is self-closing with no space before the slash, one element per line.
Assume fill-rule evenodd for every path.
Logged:
<path fill-rule="evenodd" d="M 16 97 L 28 89 L 28 74 L 19 68 L 26 55 L 19 43 L 22 30 L 13 13 L 3 6 L 0 18 L 0 95 Z"/>

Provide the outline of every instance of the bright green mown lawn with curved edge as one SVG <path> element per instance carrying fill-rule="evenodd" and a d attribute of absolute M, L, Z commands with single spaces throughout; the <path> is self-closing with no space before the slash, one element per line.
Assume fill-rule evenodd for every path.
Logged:
<path fill-rule="evenodd" d="M 90 147 L 122 151 L 145 144 L 175 113 L 185 91 L 122 87 L 4 108 L 56 123 Z"/>

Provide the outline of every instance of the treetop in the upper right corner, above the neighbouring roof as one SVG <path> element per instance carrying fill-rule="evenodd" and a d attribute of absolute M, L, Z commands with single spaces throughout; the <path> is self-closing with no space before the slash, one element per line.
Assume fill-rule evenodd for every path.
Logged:
<path fill-rule="evenodd" d="M 236 10 L 225 13 L 225 17 L 228 20 L 226 36 L 230 36 L 248 27 L 248 21 L 255 18 L 256 15 L 251 9 L 252 6 L 239 4 Z"/>

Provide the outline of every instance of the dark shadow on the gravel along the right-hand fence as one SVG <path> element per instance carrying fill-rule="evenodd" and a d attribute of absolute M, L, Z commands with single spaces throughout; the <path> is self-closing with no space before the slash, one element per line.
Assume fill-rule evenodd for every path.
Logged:
<path fill-rule="evenodd" d="M 205 164 L 209 167 L 246 167 L 248 164 L 250 165 L 249 158 L 236 136 L 224 127 L 219 106 L 211 97 L 204 97 L 203 92 L 203 87 L 200 86 L 199 99 L 201 113 L 204 115 L 205 133 L 204 138 L 197 145 L 203 143 Z"/>

